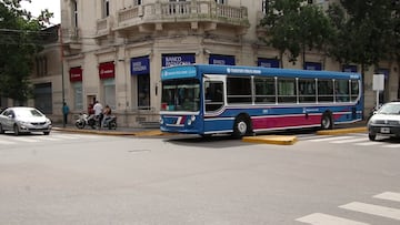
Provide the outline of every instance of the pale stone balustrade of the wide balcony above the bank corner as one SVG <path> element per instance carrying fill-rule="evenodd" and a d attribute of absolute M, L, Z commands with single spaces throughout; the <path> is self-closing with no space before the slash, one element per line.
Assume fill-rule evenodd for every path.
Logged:
<path fill-rule="evenodd" d="M 118 27 L 123 30 L 149 23 L 217 22 L 248 28 L 248 11 L 244 7 L 218 4 L 213 1 L 158 2 L 134 6 L 118 12 Z M 98 24 L 99 25 L 99 24 Z M 99 27 L 98 27 L 99 29 Z"/>

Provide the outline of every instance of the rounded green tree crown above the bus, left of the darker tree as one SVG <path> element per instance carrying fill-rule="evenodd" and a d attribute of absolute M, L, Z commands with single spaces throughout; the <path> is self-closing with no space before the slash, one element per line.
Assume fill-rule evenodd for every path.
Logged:
<path fill-rule="evenodd" d="M 286 51 L 290 53 L 289 61 L 293 63 L 300 53 L 304 63 L 307 50 L 326 51 L 332 29 L 322 9 L 304 4 L 303 0 L 270 1 L 267 9 L 261 22 L 268 31 L 264 41 L 279 51 L 281 64 Z"/>

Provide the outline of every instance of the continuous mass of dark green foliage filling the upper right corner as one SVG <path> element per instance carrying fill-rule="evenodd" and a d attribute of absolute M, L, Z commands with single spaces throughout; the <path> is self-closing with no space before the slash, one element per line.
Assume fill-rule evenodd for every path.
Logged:
<path fill-rule="evenodd" d="M 340 0 L 323 12 L 303 0 L 271 0 L 262 21 L 266 42 L 280 55 L 288 51 L 290 61 L 311 49 L 362 69 L 382 60 L 400 61 L 399 2 Z"/>

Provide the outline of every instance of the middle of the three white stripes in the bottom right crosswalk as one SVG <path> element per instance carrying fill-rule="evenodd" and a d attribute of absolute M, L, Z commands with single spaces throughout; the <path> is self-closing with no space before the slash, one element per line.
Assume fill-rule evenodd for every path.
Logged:
<path fill-rule="evenodd" d="M 346 208 L 349 211 L 356 211 L 360 213 L 371 214 L 376 216 L 382 216 L 387 218 L 400 221 L 400 209 L 392 207 L 384 207 L 379 205 L 352 202 L 346 205 L 339 206 L 340 208 Z"/>

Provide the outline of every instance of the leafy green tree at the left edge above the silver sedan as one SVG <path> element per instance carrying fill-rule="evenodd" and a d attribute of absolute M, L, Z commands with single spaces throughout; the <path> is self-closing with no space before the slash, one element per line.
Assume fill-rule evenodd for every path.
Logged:
<path fill-rule="evenodd" d="M 21 103 L 30 96 L 33 59 L 42 49 L 40 30 L 52 13 L 44 10 L 33 18 L 20 2 L 0 0 L 0 95 Z"/>

